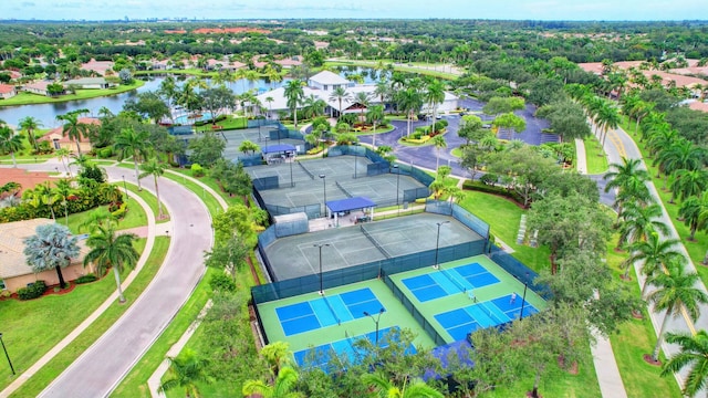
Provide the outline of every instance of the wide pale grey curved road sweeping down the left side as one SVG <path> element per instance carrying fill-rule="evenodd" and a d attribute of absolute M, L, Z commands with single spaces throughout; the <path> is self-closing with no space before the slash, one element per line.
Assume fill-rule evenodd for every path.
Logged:
<path fill-rule="evenodd" d="M 54 164 L 31 165 L 31 170 L 54 170 Z M 111 180 L 135 182 L 132 170 L 106 167 Z M 152 191 L 150 178 L 143 188 Z M 190 190 L 159 179 L 160 198 L 171 217 L 173 238 L 159 272 L 133 306 L 67 367 L 40 397 L 105 397 L 187 301 L 205 272 L 204 251 L 212 243 L 211 219 Z M 115 305 L 118 305 L 117 303 Z"/>

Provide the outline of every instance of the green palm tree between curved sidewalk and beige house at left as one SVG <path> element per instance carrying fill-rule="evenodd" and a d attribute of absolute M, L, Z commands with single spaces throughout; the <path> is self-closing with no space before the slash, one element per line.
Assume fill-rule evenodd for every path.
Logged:
<path fill-rule="evenodd" d="M 86 244 L 91 251 L 84 258 L 84 266 L 93 263 L 100 275 L 104 275 L 110 268 L 113 268 L 118 301 L 125 303 L 123 289 L 121 289 L 121 273 L 125 268 L 134 269 L 137 263 L 139 254 L 133 247 L 133 241 L 137 239 L 137 235 L 134 233 L 116 235 L 115 228 L 114 223 L 98 226 L 96 231 L 88 237 Z"/>

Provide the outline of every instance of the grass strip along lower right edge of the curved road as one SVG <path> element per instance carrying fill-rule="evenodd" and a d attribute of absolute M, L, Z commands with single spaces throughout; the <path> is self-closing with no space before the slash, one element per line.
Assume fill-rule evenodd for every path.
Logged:
<path fill-rule="evenodd" d="M 165 332 L 155 341 L 155 344 L 137 362 L 135 367 L 121 381 L 112 397 L 149 397 L 147 379 L 155 373 L 155 369 L 165 359 L 167 350 L 177 343 L 179 337 L 187 331 L 187 327 L 197 318 L 197 315 L 211 296 L 209 279 L 215 272 L 221 270 L 207 269 L 206 275 L 201 279 L 197 289 L 189 300 L 179 310 L 175 318 L 169 323 Z"/>

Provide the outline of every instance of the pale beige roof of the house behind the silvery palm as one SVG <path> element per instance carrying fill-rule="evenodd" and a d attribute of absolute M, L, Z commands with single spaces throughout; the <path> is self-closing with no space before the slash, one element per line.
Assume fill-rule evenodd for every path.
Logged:
<path fill-rule="evenodd" d="M 24 239 L 37 233 L 37 227 L 51 224 L 50 219 L 33 219 L 0 223 L 0 279 L 29 275 L 32 268 L 24 256 Z M 84 242 L 79 242 L 80 256 L 87 253 Z"/>

